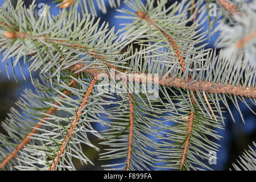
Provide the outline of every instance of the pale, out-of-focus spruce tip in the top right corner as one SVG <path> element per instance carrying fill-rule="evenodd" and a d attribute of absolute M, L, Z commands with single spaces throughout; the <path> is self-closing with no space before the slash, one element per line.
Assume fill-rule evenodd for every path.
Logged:
<path fill-rule="evenodd" d="M 255 67 L 255 36 L 256 26 L 254 16 L 255 1 L 245 3 L 242 7 L 244 13 L 239 11 L 233 15 L 233 21 L 226 23 L 224 20 L 218 25 L 216 30 L 221 32 L 216 40 L 217 47 L 224 48 L 224 56 L 232 59 L 242 55 L 247 62 Z M 229 6 L 234 12 L 236 6 Z M 232 8 L 231 8 L 232 7 Z"/>

